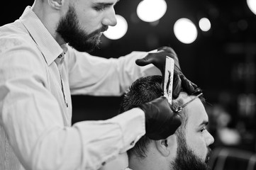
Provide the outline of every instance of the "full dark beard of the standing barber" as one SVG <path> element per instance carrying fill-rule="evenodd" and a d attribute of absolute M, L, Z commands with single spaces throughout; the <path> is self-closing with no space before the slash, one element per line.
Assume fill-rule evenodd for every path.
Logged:
<path fill-rule="evenodd" d="M 60 19 L 56 31 L 75 50 L 79 52 L 91 52 L 96 47 L 99 47 L 101 32 L 107 29 L 108 26 L 103 26 L 92 33 L 85 33 L 79 27 L 79 21 L 74 7 L 69 6 L 66 16 Z"/>

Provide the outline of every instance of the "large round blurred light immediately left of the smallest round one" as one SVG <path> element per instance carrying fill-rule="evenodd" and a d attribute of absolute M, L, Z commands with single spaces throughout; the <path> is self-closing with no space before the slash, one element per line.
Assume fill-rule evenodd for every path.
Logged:
<path fill-rule="evenodd" d="M 180 42 L 190 44 L 197 38 L 196 26 L 188 18 L 180 18 L 174 23 L 174 35 Z"/>

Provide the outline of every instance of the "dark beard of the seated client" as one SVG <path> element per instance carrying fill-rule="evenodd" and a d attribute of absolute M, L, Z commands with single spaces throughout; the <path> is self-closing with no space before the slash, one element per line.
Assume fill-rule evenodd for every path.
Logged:
<path fill-rule="evenodd" d="M 171 163 L 174 170 L 211 170 L 208 166 L 208 159 L 211 154 L 211 149 L 208 149 L 205 161 L 202 161 L 194 152 L 189 149 L 187 142 L 178 137 L 177 158 Z"/>

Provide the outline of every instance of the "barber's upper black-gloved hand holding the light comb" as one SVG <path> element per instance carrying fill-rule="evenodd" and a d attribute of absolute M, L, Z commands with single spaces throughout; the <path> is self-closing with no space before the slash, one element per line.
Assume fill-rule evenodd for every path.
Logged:
<path fill-rule="evenodd" d="M 193 94 L 195 89 L 197 88 L 196 84 L 192 83 L 187 79 L 184 74 L 182 74 L 182 70 L 179 67 L 179 59 L 177 54 L 171 47 L 160 47 L 157 49 L 157 52 L 150 52 L 147 56 L 142 59 L 138 59 L 135 61 L 139 66 L 145 66 L 148 64 L 154 64 L 155 67 L 160 69 L 162 72 L 162 89 L 164 86 L 164 77 L 165 77 L 165 60 L 166 56 L 172 57 L 174 60 L 174 84 L 172 89 L 172 97 L 177 98 L 179 96 L 179 92 L 182 87 L 188 94 Z"/>

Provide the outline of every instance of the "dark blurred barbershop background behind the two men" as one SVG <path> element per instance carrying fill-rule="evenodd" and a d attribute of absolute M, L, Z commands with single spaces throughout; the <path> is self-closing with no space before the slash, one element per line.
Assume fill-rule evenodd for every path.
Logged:
<path fill-rule="evenodd" d="M 171 46 L 179 56 L 186 77 L 204 90 L 211 122 L 209 130 L 216 139 L 213 148 L 255 153 L 256 15 L 246 0 L 166 1 L 165 16 L 155 23 L 140 21 L 136 15 L 139 0 L 119 1 L 116 13 L 126 18 L 128 32 L 119 40 L 102 36 L 100 49 L 91 54 L 120 57 L 134 50 Z M 32 0 L 3 1 L 0 25 L 15 21 L 24 8 L 32 4 Z M 211 21 L 208 32 L 202 32 L 198 26 L 202 17 Z M 189 18 L 196 24 L 199 35 L 192 44 L 185 45 L 175 38 L 173 26 L 179 18 Z M 72 96 L 73 123 L 113 117 L 118 113 L 121 98 Z M 223 142 L 219 136 L 222 129 L 236 132 L 239 141 L 232 145 Z"/>

